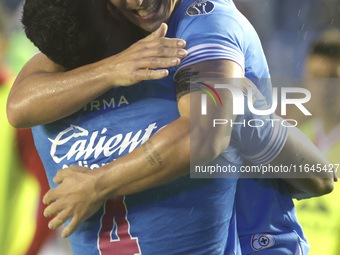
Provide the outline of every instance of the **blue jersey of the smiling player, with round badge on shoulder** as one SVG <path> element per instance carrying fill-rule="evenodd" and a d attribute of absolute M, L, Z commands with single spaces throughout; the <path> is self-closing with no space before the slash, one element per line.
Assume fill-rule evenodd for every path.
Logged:
<path fill-rule="evenodd" d="M 182 1 L 180 8 L 182 10 L 178 10 L 172 19 L 169 32 L 187 41 L 188 56 L 178 68 L 204 60 L 232 60 L 243 68 L 245 77 L 256 84 L 271 105 L 272 85 L 261 42 L 234 3 L 231 0 Z M 246 132 L 257 131 L 248 129 Z M 243 139 L 242 146 L 250 148 L 248 141 Z M 234 153 L 234 158 L 243 158 L 253 164 L 269 163 L 278 154 L 280 146 L 261 146 L 258 143 L 258 149 L 255 148 L 250 154 L 249 149 Z M 229 153 L 232 152 L 229 150 Z M 236 208 L 244 254 L 308 253 L 309 245 L 283 181 L 239 179 Z M 261 239 L 257 237 L 261 233 L 270 235 L 274 241 L 263 241 L 266 236 L 262 238 L 263 243 L 259 243 Z"/>

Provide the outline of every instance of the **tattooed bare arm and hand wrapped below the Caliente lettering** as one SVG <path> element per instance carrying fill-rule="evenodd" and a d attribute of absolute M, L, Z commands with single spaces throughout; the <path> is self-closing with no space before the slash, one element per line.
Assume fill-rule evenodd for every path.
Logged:
<path fill-rule="evenodd" d="M 93 171 L 79 166 L 59 170 L 54 182 L 60 185 L 44 197 L 44 203 L 50 204 L 45 215 L 57 214 L 50 221 L 50 227 L 57 228 L 72 217 L 62 234 L 69 236 L 81 222 L 92 216 L 106 199 L 139 192 L 187 174 L 190 171 L 190 147 L 194 150 L 191 155 L 195 157 L 191 160 L 200 164 L 207 163 L 221 154 L 228 147 L 230 127 L 221 125 L 216 132 L 205 132 L 206 127 L 196 122 L 195 128 L 190 130 L 190 118 L 197 118 L 199 121 L 200 116 L 199 107 L 190 112 L 190 100 L 200 97 L 200 93 L 189 93 L 188 72 L 196 74 L 196 77 L 206 77 L 211 75 L 210 70 L 214 72 L 214 77 L 217 77 L 217 74 L 220 78 L 243 76 L 242 68 L 228 60 L 206 61 L 180 71 L 176 76 L 181 93 L 178 100 L 180 118 L 160 130 L 135 151 L 106 166 Z M 207 118 L 233 119 L 235 116 L 232 115 L 231 94 L 226 92 L 220 96 L 225 102 L 223 111 L 216 111 L 219 116 L 211 114 Z M 208 122 L 207 119 L 203 121 Z M 207 135 L 202 137 L 202 134 Z M 196 144 L 190 146 L 193 142 Z"/>

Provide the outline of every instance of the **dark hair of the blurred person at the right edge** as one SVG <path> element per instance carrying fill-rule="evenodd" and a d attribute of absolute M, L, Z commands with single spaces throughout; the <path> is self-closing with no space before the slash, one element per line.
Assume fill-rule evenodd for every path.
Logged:
<path fill-rule="evenodd" d="M 310 54 L 318 54 L 340 60 L 340 30 L 333 28 L 324 31 L 313 44 Z"/>

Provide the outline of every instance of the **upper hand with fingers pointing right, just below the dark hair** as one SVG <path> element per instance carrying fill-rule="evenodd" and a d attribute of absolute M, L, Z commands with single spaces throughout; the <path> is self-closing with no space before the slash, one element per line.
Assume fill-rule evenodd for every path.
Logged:
<path fill-rule="evenodd" d="M 107 58 L 105 66 L 109 68 L 109 82 L 113 86 L 129 86 L 143 80 L 166 77 L 169 71 L 165 68 L 179 65 L 180 59 L 187 55 L 183 49 L 185 41 L 166 38 L 167 30 L 167 25 L 163 23 L 149 36 Z"/>

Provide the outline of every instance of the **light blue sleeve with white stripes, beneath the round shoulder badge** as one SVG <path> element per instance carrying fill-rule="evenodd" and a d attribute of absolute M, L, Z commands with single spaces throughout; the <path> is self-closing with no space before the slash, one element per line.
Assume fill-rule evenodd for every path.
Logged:
<path fill-rule="evenodd" d="M 201 61 L 227 59 L 244 70 L 243 37 L 247 26 L 243 23 L 246 21 L 233 4 L 221 2 L 214 1 L 214 9 L 207 14 L 190 16 L 187 11 L 179 22 L 176 37 L 186 40 L 188 51 L 179 69 Z"/>

